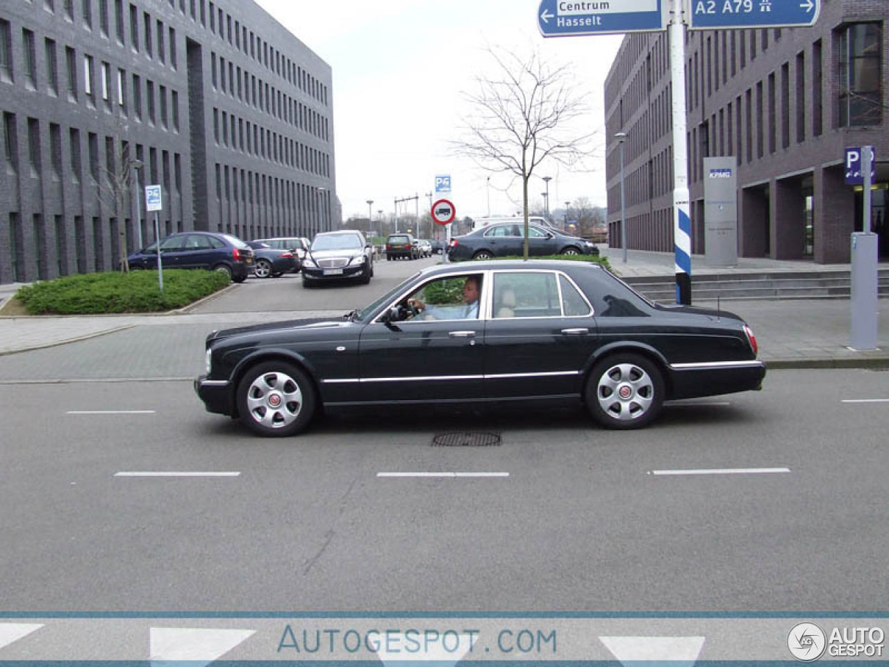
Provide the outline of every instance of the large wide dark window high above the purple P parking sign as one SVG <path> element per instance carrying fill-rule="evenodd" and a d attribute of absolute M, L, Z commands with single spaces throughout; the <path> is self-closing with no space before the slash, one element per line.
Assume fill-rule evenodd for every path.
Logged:
<path fill-rule="evenodd" d="M 879 23 L 854 23 L 839 36 L 839 125 L 881 125 L 883 30 Z"/>

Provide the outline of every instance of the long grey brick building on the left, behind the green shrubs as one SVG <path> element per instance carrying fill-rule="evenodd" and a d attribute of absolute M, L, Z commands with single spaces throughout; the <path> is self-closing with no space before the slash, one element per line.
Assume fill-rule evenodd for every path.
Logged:
<path fill-rule="evenodd" d="M 331 92 L 250 0 L 0 4 L 0 282 L 115 269 L 124 235 L 154 241 L 137 178 L 162 186 L 162 237 L 331 229 Z"/>

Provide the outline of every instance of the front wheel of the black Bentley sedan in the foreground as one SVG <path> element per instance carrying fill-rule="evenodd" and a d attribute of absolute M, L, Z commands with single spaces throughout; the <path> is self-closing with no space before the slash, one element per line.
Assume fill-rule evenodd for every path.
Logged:
<path fill-rule="evenodd" d="M 305 430 L 315 414 L 315 386 L 308 375 L 282 360 L 250 368 L 237 385 L 241 423 L 260 436 L 283 438 Z"/>

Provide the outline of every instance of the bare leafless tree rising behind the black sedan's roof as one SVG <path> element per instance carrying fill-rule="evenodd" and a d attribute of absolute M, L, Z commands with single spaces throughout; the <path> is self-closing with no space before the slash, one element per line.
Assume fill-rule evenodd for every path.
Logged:
<path fill-rule="evenodd" d="M 572 167 L 589 155 L 596 133 L 579 133 L 576 121 L 587 106 L 566 65 L 550 66 L 539 52 L 522 56 L 488 48 L 492 77 L 477 76 L 476 90 L 464 92 L 469 112 L 464 137 L 453 151 L 481 168 L 512 173 L 522 181 L 525 259 L 528 258 L 528 181 L 544 160 Z"/>

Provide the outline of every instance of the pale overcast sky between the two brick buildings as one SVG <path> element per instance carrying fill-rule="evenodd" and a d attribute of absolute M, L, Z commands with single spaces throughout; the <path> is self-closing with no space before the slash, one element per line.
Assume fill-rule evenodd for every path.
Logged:
<path fill-rule="evenodd" d="M 544 39 L 537 28 L 539 0 L 258 0 L 259 4 L 332 68 L 336 187 L 343 219 L 391 214 L 394 200 L 420 195 L 428 210 L 437 174 L 450 174 L 449 198 L 458 217 L 514 214 L 521 187 L 450 156 L 465 112 L 461 92 L 489 62 L 485 48 L 521 53 L 537 47 L 549 63 L 570 64 L 586 97 L 585 130 L 604 139 L 603 85 L 621 36 Z M 550 210 L 588 197 L 605 205 L 605 162 L 592 173 L 541 165 L 551 176 Z M 490 189 L 488 176 L 491 176 Z M 542 203 L 546 186 L 534 178 L 529 196 Z M 413 213 L 411 202 L 406 209 Z M 400 208 L 405 213 L 404 205 Z"/>

